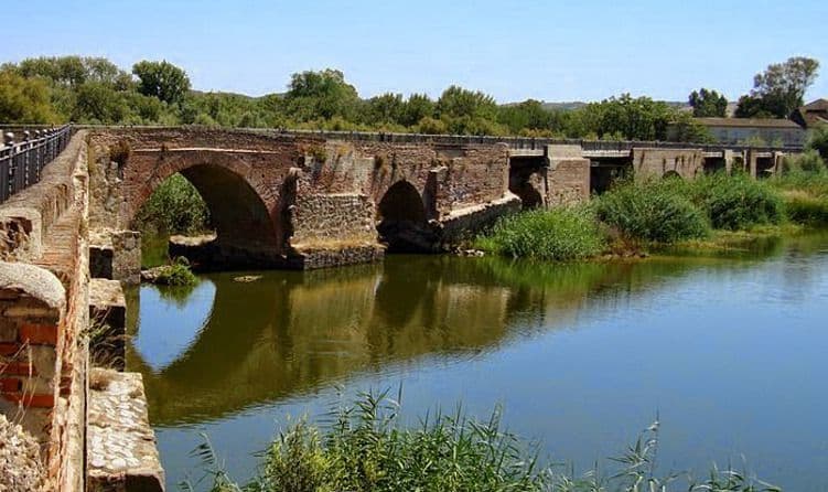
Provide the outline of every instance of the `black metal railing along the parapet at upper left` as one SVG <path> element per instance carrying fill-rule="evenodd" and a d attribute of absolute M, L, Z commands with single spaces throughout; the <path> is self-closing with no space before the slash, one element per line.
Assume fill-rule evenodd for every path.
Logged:
<path fill-rule="evenodd" d="M 0 203 L 41 179 L 43 168 L 66 148 L 72 127 L 7 132 L 0 147 Z M 19 140 L 19 141 L 18 141 Z"/>

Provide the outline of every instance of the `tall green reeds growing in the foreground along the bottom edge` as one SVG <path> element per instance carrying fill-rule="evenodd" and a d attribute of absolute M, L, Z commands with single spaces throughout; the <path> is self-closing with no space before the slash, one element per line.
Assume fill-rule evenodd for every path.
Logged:
<path fill-rule="evenodd" d="M 353 404 L 332 408 L 320 425 L 300 420 L 264 451 L 258 477 L 244 486 L 223 470 L 208 440 L 195 454 L 214 492 L 668 491 L 673 483 L 699 492 L 778 490 L 716 467 L 700 482 L 688 473 L 659 475 L 658 421 L 606 468 L 596 463 L 577 477 L 542 466 L 537 446 L 503 428 L 499 409 L 483 421 L 460 408 L 451 415 L 438 411 L 410 428 L 400 424 L 397 402 L 387 393 L 361 394 Z"/>

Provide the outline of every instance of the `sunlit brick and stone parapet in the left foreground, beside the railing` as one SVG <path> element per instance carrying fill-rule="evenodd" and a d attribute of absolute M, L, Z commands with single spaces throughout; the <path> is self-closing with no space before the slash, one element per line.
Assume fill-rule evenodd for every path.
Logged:
<path fill-rule="evenodd" d="M 0 267 L 4 367 L 0 411 L 42 443 L 47 490 L 83 489 L 88 327 L 86 138 L 76 133 L 36 185 L 0 205 L 35 217 Z M 10 253 L 10 254 L 9 254 Z"/>

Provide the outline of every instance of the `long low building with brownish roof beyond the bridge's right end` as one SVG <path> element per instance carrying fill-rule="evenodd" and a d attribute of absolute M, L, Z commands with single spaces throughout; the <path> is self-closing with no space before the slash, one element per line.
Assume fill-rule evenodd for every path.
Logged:
<path fill-rule="evenodd" d="M 719 143 L 743 143 L 761 139 L 768 146 L 802 146 L 805 128 L 789 119 L 695 118 Z"/>

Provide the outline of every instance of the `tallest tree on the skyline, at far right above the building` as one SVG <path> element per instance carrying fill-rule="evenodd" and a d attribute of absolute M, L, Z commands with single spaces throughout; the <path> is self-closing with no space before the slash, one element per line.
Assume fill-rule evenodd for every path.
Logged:
<path fill-rule="evenodd" d="M 805 92 L 816 81 L 819 62 L 794 56 L 784 63 L 768 65 L 753 77 L 753 89 L 739 99 L 736 116 L 761 118 L 770 115 L 787 118 L 803 105 Z"/>

